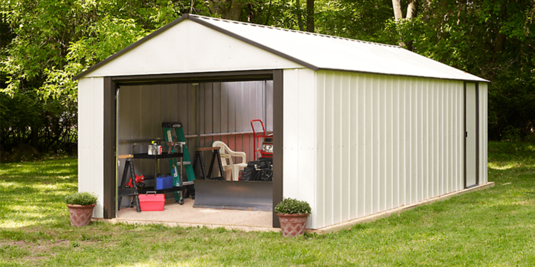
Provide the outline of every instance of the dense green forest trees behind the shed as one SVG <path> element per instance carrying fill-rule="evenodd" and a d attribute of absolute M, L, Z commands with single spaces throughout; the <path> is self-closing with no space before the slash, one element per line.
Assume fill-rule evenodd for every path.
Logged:
<path fill-rule="evenodd" d="M 73 76 L 183 13 L 403 46 L 491 81 L 491 140 L 535 142 L 534 0 L 0 3 L 3 160 L 20 157 L 16 155 L 19 150 L 76 152 L 77 83 Z"/>

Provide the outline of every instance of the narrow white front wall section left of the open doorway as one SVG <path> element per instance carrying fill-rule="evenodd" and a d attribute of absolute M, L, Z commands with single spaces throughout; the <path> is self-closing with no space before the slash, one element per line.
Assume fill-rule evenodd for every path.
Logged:
<path fill-rule="evenodd" d="M 93 216 L 103 217 L 103 78 L 78 82 L 78 191 L 98 197 Z"/>

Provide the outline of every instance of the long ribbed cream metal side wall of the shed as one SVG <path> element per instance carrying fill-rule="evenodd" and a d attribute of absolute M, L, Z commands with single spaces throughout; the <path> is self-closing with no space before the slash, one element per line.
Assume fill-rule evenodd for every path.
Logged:
<path fill-rule="evenodd" d="M 318 71 L 312 227 L 462 189 L 462 103 L 459 81 Z"/>

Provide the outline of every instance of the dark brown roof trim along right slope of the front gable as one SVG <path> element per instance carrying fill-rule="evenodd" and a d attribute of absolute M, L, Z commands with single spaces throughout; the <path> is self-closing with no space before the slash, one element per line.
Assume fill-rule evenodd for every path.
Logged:
<path fill-rule="evenodd" d="M 188 14 L 184 14 L 184 15 L 188 15 Z M 277 50 L 275 50 L 273 48 L 270 48 L 268 46 L 264 46 L 261 43 L 257 43 L 255 41 L 252 41 L 252 40 L 248 39 L 248 38 L 245 38 L 245 37 L 240 36 L 240 35 L 238 35 L 236 33 L 233 33 L 232 31 L 225 30 L 224 28 L 220 28 L 218 26 L 213 25 L 212 23 L 208 23 L 208 22 L 205 21 L 206 19 L 212 19 L 212 18 L 206 18 L 206 17 L 203 17 L 203 16 L 188 15 L 188 19 L 190 19 L 190 21 L 195 21 L 195 22 L 197 22 L 197 23 L 199 23 L 199 24 L 201 24 L 203 26 L 206 26 L 208 28 L 211 28 L 211 29 L 213 29 L 215 31 L 219 31 L 220 33 L 224 33 L 224 34 L 226 34 L 226 35 L 228 35 L 230 37 L 233 37 L 233 38 L 236 38 L 236 39 L 238 39 L 240 41 L 248 43 L 251 46 L 255 46 L 257 48 L 263 49 L 263 50 L 265 50 L 267 52 L 270 52 L 272 54 L 280 56 L 281 58 L 285 58 L 285 59 L 287 59 L 289 61 L 295 62 L 295 63 L 297 63 L 297 64 L 299 64 L 301 66 L 305 66 L 305 67 L 310 68 L 312 70 L 319 70 L 320 69 L 319 67 L 317 67 L 315 65 L 312 65 L 312 64 L 307 63 L 305 61 L 302 61 L 302 60 L 300 60 L 298 58 L 294 58 L 294 57 L 292 57 L 290 55 L 287 55 L 285 53 L 277 51 Z M 225 21 L 225 20 L 222 19 L 220 21 Z M 225 21 L 225 22 L 232 23 L 233 21 L 232 22 L 231 21 Z"/>

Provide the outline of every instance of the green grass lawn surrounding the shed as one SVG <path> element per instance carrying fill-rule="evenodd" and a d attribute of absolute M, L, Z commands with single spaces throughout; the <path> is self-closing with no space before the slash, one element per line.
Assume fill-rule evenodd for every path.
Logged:
<path fill-rule="evenodd" d="M 0 266 L 535 266 L 535 146 L 489 144 L 486 189 L 323 236 L 70 226 L 77 160 L 0 164 Z"/>

